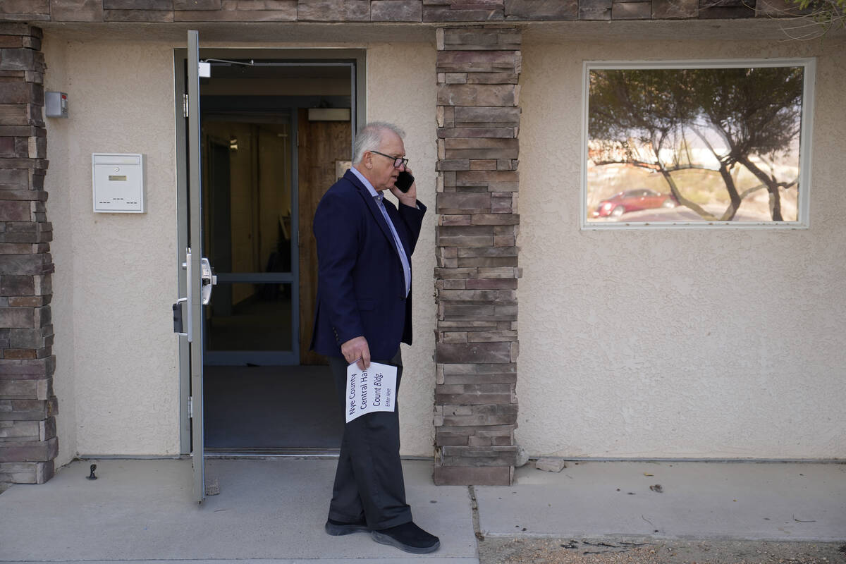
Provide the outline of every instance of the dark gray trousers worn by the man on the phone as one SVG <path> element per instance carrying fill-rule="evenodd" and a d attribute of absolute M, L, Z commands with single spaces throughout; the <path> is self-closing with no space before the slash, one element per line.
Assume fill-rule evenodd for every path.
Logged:
<path fill-rule="evenodd" d="M 398 400 L 399 381 L 403 374 L 399 351 L 393 359 L 373 361 L 398 366 Z M 330 357 L 329 366 L 338 391 L 338 408 L 344 413 L 348 364 L 344 359 Z M 411 507 L 405 502 L 403 467 L 399 460 L 399 407 L 396 400 L 393 412 L 366 413 L 344 426 L 329 518 L 344 523 L 365 518 L 367 526 L 375 529 L 411 521 Z"/>

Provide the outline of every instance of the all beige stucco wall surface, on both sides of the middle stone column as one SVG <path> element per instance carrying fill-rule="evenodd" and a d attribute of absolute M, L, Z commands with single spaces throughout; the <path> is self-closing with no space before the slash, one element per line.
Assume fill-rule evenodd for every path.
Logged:
<path fill-rule="evenodd" d="M 846 457 L 843 43 L 561 37 L 527 33 L 523 48 L 519 444 L 570 457 Z M 180 451 L 177 47 L 46 34 L 46 87 L 67 92 L 70 109 L 47 120 L 60 464 Z M 407 132 L 430 211 L 415 250 L 401 441 L 405 455 L 431 456 L 434 33 L 235 47 L 364 48 L 368 119 Z M 662 56 L 818 57 L 809 228 L 580 230 L 583 62 Z M 91 211 L 93 152 L 146 156 L 145 214 Z"/>

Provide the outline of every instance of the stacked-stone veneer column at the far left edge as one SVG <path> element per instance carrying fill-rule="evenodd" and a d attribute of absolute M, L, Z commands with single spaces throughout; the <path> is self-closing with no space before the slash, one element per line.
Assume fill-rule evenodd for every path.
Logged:
<path fill-rule="evenodd" d="M 58 452 L 41 30 L 0 24 L 0 482 L 41 484 Z"/>

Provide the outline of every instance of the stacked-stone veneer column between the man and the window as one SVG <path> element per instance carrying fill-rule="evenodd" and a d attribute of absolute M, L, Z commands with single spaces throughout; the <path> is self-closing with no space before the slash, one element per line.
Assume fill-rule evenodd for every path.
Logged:
<path fill-rule="evenodd" d="M 519 48 L 510 26 L 437 30 L 438 485 L 514 477 Z"/>

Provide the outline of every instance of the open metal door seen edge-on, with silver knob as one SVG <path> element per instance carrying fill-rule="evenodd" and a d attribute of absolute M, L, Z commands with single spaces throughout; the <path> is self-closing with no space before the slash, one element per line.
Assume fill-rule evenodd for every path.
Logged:
<path fill-rule="evenodd" d="M 206 473 L 203 459 L 203 306 L 211 299 L 211 286 L 217 282 L 211 265 L 203 256 L 201 146 L 200 146 L 200 46 L 199 34 L 188 32 L 188 81 L 185 85 L 188 105 L 188 178 L 189 229 L 185 249 L 187 336 L 190 342 L 190 417 L 191 457 L 194 464 L 194 499 L 206 497 Z"/>

